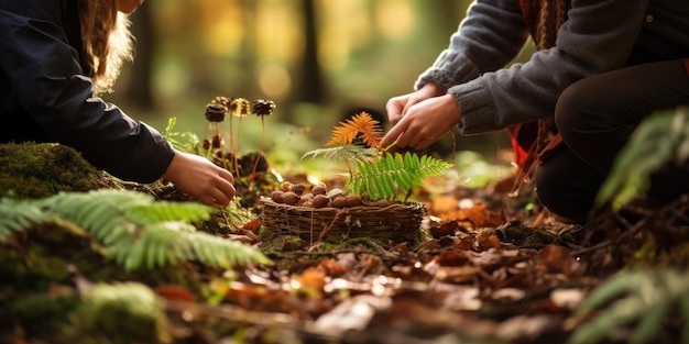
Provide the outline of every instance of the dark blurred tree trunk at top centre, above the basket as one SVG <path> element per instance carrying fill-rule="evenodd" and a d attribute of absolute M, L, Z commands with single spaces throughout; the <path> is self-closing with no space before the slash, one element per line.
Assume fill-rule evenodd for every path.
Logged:
<path fill-rule="evenodd" d="M 321 103 L 326 98 L 325 82 L 318 63 L 318 35 L 316 29 L 315 0 L 303 0 L 304 35 L 306 47 L 296 78 L 294 100 Z"/>

